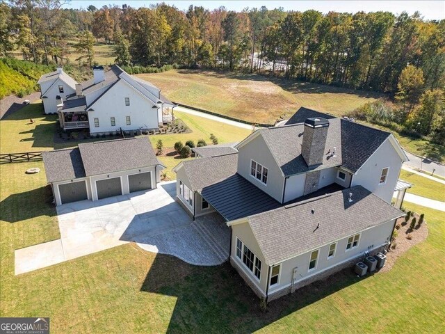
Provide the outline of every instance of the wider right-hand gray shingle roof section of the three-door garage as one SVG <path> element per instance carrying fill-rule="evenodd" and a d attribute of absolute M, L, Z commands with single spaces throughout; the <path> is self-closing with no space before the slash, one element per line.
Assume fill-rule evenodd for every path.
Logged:
<path fill-rule="evenodd" d="M 79 144 L 87 176 L 161 164 L 147 138 Z"/>

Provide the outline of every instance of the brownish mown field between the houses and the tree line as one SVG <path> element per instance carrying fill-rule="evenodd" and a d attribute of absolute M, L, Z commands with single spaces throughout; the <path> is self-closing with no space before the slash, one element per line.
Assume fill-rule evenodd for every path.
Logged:
<path fill-rule="evenodd" d="M 172 101 L 257 123 L 289 118 L 300 106 L 343 116 L 383 96 L 257 74 L 170 70 L 138 77 L 161 88 Z"/>

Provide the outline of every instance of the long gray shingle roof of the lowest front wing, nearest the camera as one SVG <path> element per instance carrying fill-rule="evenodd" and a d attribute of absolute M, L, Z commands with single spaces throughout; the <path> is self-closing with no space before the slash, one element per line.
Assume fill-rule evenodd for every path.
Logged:
<path fill-rule="evenodd" d="M 349 193 L 353 202 L 348 202 Z M 249 216 L 248 221 L 266 262 L 273 265 L 400 216 L 403 212 L 371 191 L 354 186 Z"/>

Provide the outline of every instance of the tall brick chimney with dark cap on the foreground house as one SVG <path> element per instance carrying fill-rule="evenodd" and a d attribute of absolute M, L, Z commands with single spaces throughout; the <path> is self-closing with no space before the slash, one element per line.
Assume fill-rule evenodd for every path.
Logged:
<path fill-rule="evenodd" d="M 307 118 L 305 121 L 301 154 L 307 166 L 323 163 L 328 127 L 329 121 L 325 118 Z"/>

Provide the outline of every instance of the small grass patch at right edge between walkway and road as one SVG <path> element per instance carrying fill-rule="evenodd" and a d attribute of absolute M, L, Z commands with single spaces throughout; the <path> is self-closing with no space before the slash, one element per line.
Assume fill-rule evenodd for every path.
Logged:
<path fill-rule="evenodd" d="M 400 177 L 402 180 L 414 184 L 412 188 L 407 190 L 408 193 L 445 202 L 445 184 L 435 182 L 407 170 L 401 170 Z"/>

